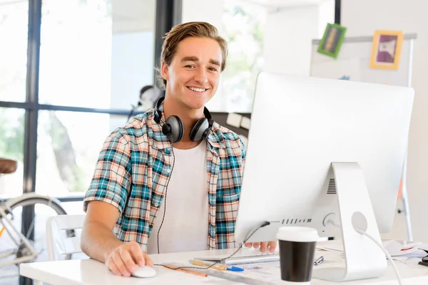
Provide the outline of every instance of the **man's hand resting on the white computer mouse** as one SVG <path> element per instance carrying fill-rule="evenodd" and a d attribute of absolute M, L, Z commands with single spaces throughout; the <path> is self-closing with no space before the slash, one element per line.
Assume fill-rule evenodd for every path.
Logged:
<path fill-rule="evenodd" d="M 153 261 L 136 242 L 122 244 L 113 249 L 112 252 L 106 252 L 104 258 L 107 268 L 118 276 L 131 276 L 131 273 L 136 271 L 137 266 L 153 267 Z"/>

